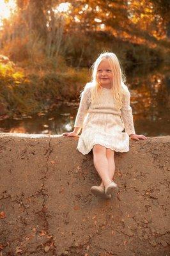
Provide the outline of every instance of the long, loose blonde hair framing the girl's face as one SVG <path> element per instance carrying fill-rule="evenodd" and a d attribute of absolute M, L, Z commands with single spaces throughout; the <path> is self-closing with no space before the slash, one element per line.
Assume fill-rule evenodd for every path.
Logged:
<path fill-rule="evenodd" d="M 109 65 L 111 66 L 112 74 L 113 74 L 113 80 L 112 80 L 112 89 L 111 93 L 114 97 L 115 104 L 117 108 L 122 107 L 122 99 L 123 99 L 123 93 L 128 90 L 127 86 L 125 85 L 125 75 L 121 71 L 120 62 L 113 52 L 103 52 L 100 54 L 100 56 L 97 58 L 95 63 L 91 66 L 93 73 L 92 73 L 92 79 L 91 82 L 86 84 L 86 87 L 91 87 L 91 100 L 96 100 L 98 98 L 98 95 L 100 94 L 100 89 L 102 86 L 97 81 L 97 68 L 98 65 L 104 60 L 109 61 Z"/>

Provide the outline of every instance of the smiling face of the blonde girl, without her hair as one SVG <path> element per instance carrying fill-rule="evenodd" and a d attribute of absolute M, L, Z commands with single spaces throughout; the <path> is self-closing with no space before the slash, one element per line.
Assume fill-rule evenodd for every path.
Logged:
<path fill-rule="evenodd" d="M 107 59 L 102 60 L 97 68 L 97 81 L 104 88 L 112 87 L 112 70 Z"/>

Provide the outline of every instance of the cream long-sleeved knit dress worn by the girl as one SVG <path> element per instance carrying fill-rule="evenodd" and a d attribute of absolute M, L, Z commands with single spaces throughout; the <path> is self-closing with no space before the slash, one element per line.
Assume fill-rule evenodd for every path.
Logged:
<path fill-rule="evenodd" d="M 127 90 L 123 95 L 123 108 L 116 109 L 110 89 L 102 88 L 100 98 L 92 104 L 91 88 L 85 88 L 74 127 L 82 127 L 77 150 L 84 155 L 96 144 L 116 152 L 128 152 L 129 135 L 135 134 L 130 92 Z"/>

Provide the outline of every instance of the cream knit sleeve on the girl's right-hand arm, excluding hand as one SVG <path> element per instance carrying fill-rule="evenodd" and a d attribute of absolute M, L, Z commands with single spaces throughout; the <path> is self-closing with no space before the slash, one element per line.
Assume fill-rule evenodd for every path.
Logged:
<path fill-rule="evenodd" d="M 127 91 L 123 95 L 123 107 L 121 108 L 121 118 L 125 127 L 125 132 L 128 135 L 135 134 L 134 120 L 132 115 L 132 108 L 130 107 L 130 92 Z"/>

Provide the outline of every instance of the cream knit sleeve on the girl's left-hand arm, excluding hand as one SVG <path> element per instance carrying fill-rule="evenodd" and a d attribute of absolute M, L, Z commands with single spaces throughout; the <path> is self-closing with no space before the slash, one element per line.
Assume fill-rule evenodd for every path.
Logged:
<path fill-rule="evenodd" d="M 81 94 L 81 102 L 75 118 L 74 127 L 82 127 L 84 118 L 88 113 L 89 104 L 91 102 L 90 88 L 85 89 Z"/>

